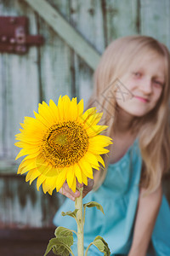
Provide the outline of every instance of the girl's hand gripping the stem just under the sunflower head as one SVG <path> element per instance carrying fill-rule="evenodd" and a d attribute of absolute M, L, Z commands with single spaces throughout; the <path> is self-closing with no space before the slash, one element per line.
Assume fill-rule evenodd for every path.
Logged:
<path fill-rule="evenodd" d="M 88 192 L 90 192 L 93 187 L 94 187 L 94 179 L 88 178 L 88 186 L 84 185 L 83 183 L 80 184 L 77 182 L 77 186 L 82 188 L 83 187 L 83 191 L 82 191 L 82 197 L 84 197 L 85 195 L 88 194 Z M 63 184 L 63 187 L 61 189 L 59 189 L 59 193 L 62 195 L 65 195 L 66 197 L 70 198 L 72 201 L 75 201 L 77 197 L 80 196 L 80 192 L 78 190 L 76 190 L 76 192 L 74 193 L 68 186 L 68 184 L 65 183 Z"/>

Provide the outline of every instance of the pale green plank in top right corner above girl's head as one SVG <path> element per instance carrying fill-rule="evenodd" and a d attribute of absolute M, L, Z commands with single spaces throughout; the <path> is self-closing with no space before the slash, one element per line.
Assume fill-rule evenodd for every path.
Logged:
<path fill-rule="evenodd" d="M 154 37 L 170 49 L 170 1 L 141 1 L 141 33 Z"/>

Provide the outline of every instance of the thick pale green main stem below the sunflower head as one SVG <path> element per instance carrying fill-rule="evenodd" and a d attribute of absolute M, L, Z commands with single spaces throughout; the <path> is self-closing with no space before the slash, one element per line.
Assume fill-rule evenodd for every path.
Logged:
<path fill-rule="evenodd" d="M 75 201 L 75 208 L 77 211 L 77 255 L 84 255 L 84 243 L 83 243 L 83 218 L 82 218 L 82 188 L 77 188 L 80 191 L 80 196 Z"/>

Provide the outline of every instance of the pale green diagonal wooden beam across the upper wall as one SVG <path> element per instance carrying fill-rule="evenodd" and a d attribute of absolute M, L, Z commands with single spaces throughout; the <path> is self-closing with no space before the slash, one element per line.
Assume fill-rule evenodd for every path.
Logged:
<path fill-rule="evenodd" d="M 87 62 L 88 66 L 95 69 L 99 63 L 99 53 L 82 38 L 82 36 L 45 0 L 24 0 L 38 15 L 45 20 L 54 31 L 65 40 L 66 44 L 77 52 Z"/>

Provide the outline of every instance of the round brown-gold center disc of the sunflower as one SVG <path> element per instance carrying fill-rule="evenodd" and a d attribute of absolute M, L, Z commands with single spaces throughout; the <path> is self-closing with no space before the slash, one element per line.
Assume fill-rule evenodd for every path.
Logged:
<path fill-rule="evenodd" d="M 53 166 L 77 163 L 88 151 L 88 134 L 73 121 L 53 125 L 42 139 L 42 154 Z"/>

